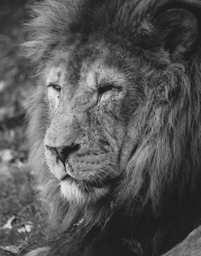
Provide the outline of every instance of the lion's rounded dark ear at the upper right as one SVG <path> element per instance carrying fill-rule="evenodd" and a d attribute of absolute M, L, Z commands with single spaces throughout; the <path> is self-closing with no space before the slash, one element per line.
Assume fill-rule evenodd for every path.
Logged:
<path fill-rule="evenodd" d="M 193 50 L 199 30 L 196 17 L 185 9 L 170 9 L 157 16 L 155 27 L 172 62 Z"/>

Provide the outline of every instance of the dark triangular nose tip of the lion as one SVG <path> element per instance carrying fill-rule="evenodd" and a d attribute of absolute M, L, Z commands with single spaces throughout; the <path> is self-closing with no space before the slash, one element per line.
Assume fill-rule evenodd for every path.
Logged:
<path fill-rule="evenodd" d="M 45 145 L 48 150 L 50 150 L 64 165 L 66 159 L 68 158 L 69 154 L 71 152 L 76 151 L 79 148 L 79 145 L 75 146 L 64 146 L 64 147 L 50 147 L 48 145 Z"/>

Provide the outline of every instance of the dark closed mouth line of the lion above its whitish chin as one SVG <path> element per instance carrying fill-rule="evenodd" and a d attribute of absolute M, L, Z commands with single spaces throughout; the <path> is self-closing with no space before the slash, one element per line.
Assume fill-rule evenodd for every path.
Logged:
<path fill-rule="evenodd" d="M 114 183 L 114 179 L 97 180 L 97 181 L 86 181 L 86 180 L 79 181 L 71 177 L 69 174 L 65 175 L 65 177 L 61 181 L 65 181 L 65 180 L 70 181 L 72 184 L 76 184 L 77 187 L 83 187 L 85 189 L 93 188 L 93 187 L 101 188 Z"/>

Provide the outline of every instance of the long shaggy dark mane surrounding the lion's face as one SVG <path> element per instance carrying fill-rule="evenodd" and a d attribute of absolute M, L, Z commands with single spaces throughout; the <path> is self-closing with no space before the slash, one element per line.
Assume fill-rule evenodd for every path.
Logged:
<path fill-rule="evenodd" d="M 198 21 L 201 17 L 199 0 L 47 0 L 34 7 L 29 24 L 33 33 L 25 50 L 40 65 L 41 80 L 28 113 L 30 159 L 58 237 L 46 255 L 133 255 L 122 238 L 137 239 L 144 255 L 160 255 L 200 224 L 200 39 L 189 56 L 171 63 L 159 47 L 160 34 L 153 23 L 159 13 L 173 7 L 190 10 Z M 130 58 L 125 75 L 137 63 L 137 83 L 143 85 L 139 93 L 145 96 L 130 127 L 133 155 L 112 196 L 83 208 L 62 201 L 58 181 L 46 169 L 43 145 L 50 122 L 41 89 L 45 61 L 59 45 L 73 44 L 76 32 L 86 38 L 100 34 L 106 42 L 118 42 L 125 52 L 133 47 L 137 57 L 125 55 Z M 115 210 L 106 223 L 112 200 Z M 69 234 L 67 230 L 82 217 L 84 222 Z"/>

